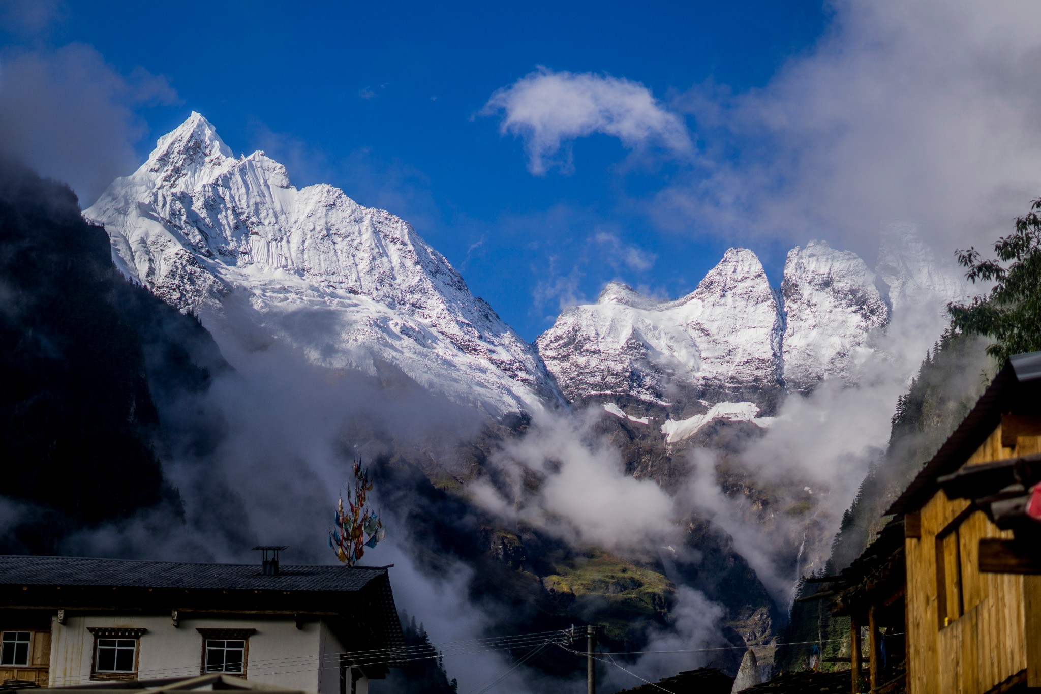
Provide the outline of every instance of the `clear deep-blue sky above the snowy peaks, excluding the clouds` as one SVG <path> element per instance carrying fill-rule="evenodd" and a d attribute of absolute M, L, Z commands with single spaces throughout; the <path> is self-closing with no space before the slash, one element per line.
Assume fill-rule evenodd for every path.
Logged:
<path fill-rule="evenodd" d="M 610 279 L 689 291 L 727 245 L 650 221 L 640 207 L 677 164 L 627 168 L 626 149 L 608 135 L 576 144 L 573 172 L 533 176 L 523 142 L 480 115 L 492 93 L 539 66 L 626 78 L 662 100 L 705 80 L 759 86 L 824 22 L 820 3 L 804 0 L 639 12 L 603 2 L 293 11 L 276 2 L 92 2 L 55 14 L 47 35 L 10 35 L 8 48 L 80 42 L 116 72 L 144 68 L 176 92 L 176 103 L 135 108 L 149 128 L 139 154 L 198 110 L 236 152 L 262 148 L 285 162 L 297 185 L 328 181 L 412 222 L 527 339 L 549 327 L 561 299 L 593 298 Z M 628 264 L 602 257 L 629 247 L 641 255 Z"/>

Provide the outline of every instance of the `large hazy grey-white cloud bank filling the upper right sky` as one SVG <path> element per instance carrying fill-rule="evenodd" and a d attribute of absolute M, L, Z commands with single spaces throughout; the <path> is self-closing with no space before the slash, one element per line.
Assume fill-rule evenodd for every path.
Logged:
<path fill-rule="evenodd" d="M 676 101 L 707 165 L 652 213 L 677 229 L 826 235 L 862 253 L 886 217 L 923 223 L 944 253 L 1010 231 L 1041 192 L 1041 4 L 832 7 L 818 45 L 764 88 L 707 84 Z"/>

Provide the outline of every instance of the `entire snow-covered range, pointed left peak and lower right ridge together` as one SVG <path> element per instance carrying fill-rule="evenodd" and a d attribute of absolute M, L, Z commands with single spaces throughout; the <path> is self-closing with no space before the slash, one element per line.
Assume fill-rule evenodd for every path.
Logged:
<path fill-rule="evenodd" d="M 406 222 L 330 185 L 297 189 L 262 152 L 234 157 L 199 113 L 84 216 L 105 226 L 128 278 L 219 339 L 275 336 L 323 365 L 389 365 L 493 415 L 559 405 L 562 391 L 637 417 L 687 419 L 718 403 L 768 417 L 786 392 L 856 382 L 892 310 L 964 295 L 913 228 L 888 223 L 875 273 L 811 241 L 775 289 L 755 253 L 731 249 L 686 297 L 611 282 L 529 345 Z"/>

